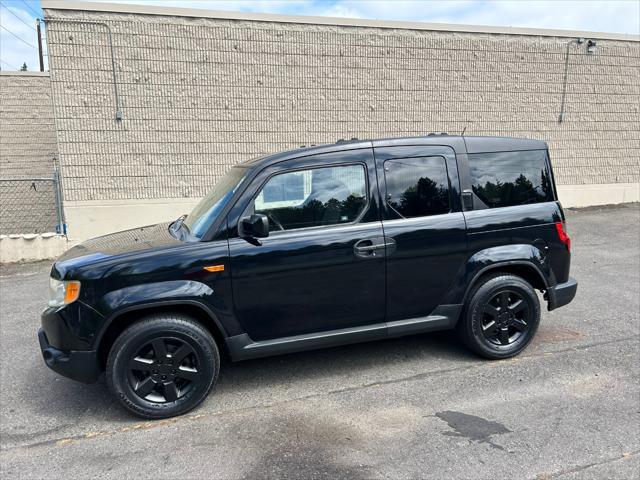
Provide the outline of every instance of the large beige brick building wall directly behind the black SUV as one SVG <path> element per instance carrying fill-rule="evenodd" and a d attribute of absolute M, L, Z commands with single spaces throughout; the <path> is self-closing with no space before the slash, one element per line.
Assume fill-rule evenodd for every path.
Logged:
<path fill-rule="evenodd" d="M 260 154 L 432 131 L 546 140 L 565 205 L 638 201 L 636 36 L 42 5 L 72 238 L 176 217 Z"/>

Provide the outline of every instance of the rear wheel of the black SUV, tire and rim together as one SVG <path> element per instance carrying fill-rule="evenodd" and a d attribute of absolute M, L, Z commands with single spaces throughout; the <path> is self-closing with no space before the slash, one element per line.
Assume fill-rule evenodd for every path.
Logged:
<path fill-rule="evenodd" d="M 457 330 L 478 355 L 501 359 L 524 350 L 539 324 L 540 301 L 533 287 L 521 277 L 498 273 L 473 287 Z"/>

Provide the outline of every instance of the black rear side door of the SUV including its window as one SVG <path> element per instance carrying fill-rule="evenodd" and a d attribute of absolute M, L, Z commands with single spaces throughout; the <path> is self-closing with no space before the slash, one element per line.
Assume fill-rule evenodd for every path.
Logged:
<path fill-rule="evenodd" d="M 376 148 L 375 156 L 389 245 L 387 321 L 425 317 L 443 303 L 466 255 L 455 152 L 397 146 Z"/>

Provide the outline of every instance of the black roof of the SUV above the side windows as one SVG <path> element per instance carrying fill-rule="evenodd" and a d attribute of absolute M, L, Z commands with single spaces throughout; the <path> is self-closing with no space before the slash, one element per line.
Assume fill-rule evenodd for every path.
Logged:
<path fill-rule="evenodd" d="M 546 142 L 528 138 L 512 137 L 483 137 L 461 136 L 447 134 L 429 134 L 419 137 L 382 138 L 378 140 L 338 140 L 336 143 L 325 145 L 302 146 L 295 150 L 288 150 L 274 154 L 263 155 L 240 163 L 242 167 L 264 167 L 274 163 L 283 162 L 308 155 L 339 152 L 344 150 L 357 150 L 361 148 L 381 148 L 407 145 L 447 145 L 456 150 L 462 150 L 462 144 L 466 145 L 467 153 L 509 152 L 518 150 L 544 150 Z M 456 148 L 457 147 L 457 148 Z"/>

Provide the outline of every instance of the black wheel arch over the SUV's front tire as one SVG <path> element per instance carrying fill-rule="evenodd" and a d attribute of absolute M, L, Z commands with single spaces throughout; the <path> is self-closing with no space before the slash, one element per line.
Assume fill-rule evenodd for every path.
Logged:
<path fill-rule="evenodd" d="M 225 340 L 228 335 L 216 315 L 205 305 L 194 300 L 150 302 L 123 308 L 109 318 L 107 326 L 96 340 L 100 368 L 104 370 L 111 346 L 127 327 L 148 315 L 169 312 L 192 317 L 209 331 L 220 350 L 228 354 Z"/>

